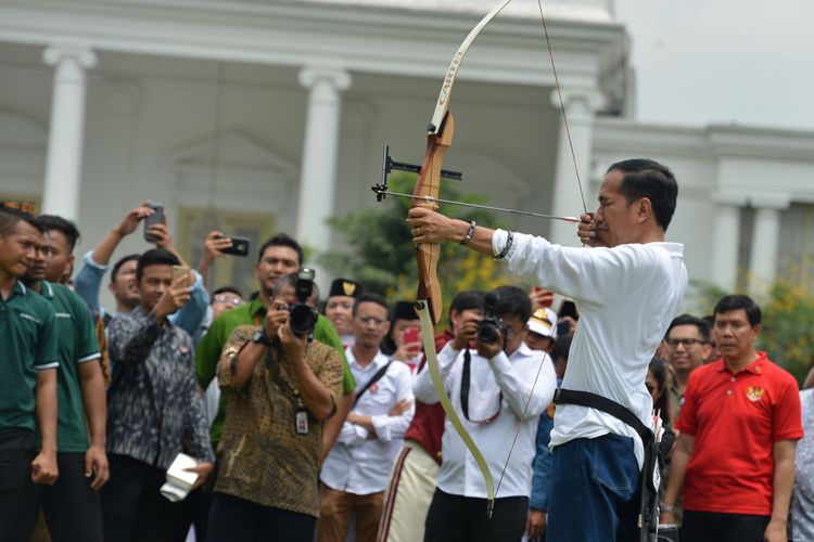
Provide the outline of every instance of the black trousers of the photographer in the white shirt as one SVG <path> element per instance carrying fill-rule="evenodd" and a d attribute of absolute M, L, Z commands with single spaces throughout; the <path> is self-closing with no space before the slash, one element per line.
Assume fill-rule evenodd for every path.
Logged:
<path fill-rule="evenodd" d="M 495 500 L 492 519 L 486 499 L 450 495 L 435 489 L 424 522 L 424 542 L 517 542 L 525 531 L 529 498 Z"/>

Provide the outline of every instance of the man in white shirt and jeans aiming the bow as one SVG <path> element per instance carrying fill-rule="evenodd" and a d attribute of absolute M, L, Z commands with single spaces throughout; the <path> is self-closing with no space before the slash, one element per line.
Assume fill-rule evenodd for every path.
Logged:
<path fill-rule="evenodd" d="M 687 286 L 683 245 L 664 242 L 677 194 L 673 173 L 661 164 L 612 165 L 596 214 L 583 215 L 578 228 L 581 241 L 596 247 L 592 250 L 420 207 L 410 209 L 407 222 L 416 244 L 470 240 L 470 248 L 506 258 L 517 275 L 572 297 L 581 318 L 563 388 L 611 399 L 649 427 L 648 363 Z M 644 461 L 638 434 L 599 410 L 560 404 L 551 448 L 547 540 L 635 539 Z"/>

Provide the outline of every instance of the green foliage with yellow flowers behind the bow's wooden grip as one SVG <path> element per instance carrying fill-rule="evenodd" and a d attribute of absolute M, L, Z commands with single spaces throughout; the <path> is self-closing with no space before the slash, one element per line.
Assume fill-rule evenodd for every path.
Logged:
<path fill-rule="evenodd" d="M 412 193 L 415 175 L 394 173 L 390 190 Z M 461 194 L 455 181 L 442 180 L 440 197 L 465 203 L 483 204 L 485 198 Z M 371 193 L 370 197 L 374 197 Z M 418 282 L 416 249 L 407 211 L 411 201 L 387 196 L 373 208 L 366 208 L 345 217 L 333 217 L 331 225 L 342 233 L 351 250 L 331 251 L 320 262 L 335 276 L 347 276 L 361 282 L 367 292 L 377 292 L 391 299 L 415 299 Z M 474 220 L 479 225 L 497 228 L 487 211 L 457 205 L 442 205 L 441 212 L 450 218 Z M 445 310 L 451 297 L 463 289 L 492 289 L 503 284 L 500 268 L 488 257 L 456 245 L 443 243 L 437 269 Z"/>

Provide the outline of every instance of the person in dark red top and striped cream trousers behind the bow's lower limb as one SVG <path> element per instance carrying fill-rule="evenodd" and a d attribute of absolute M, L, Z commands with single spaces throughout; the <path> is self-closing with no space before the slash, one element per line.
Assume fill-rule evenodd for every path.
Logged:
<path fill-rule="evenodd" d="M 455 338 L 461 322 L 483 318 L 483 292 L 458 294 L 449 308 L 450 331 L 435 336 L 435 351 L 441 351 Z M 416 401 L 416 414 L 404 435 L 404 448 L 391 473 L 378 542 L 423 540 L 427 511 L 435 493 L 435 479 L 441 465 L 444 420 L 441 403 Z"/>

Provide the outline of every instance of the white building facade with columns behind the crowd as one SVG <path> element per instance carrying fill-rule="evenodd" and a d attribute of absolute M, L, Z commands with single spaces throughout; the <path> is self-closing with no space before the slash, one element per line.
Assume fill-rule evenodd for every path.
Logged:
<path fill-rule="evenodd" d="M 805 233 L 814 133 L 641 125 L 612 0 L 544 5 L 588 208 L 609 164 L 649 156 L 679 180 L 669 237 L 686 243 L 692 278 L 732 287 L 739 270 L 771 281 L 803 269 L 814 247 Z M 216 228 L 255 243 L 287 231 L 327 250 L 341 242 L 328 217 L 374 205 L 383 144 L 420 163 L 446 67 L 492 7 L 3 2 L 0 198 L 75 219 L 85 232 L 80 250 L 145 199 L 165 205 L 177 244 L 193 258 Z M 514 0 L 458 74 L 445 165 L 465 172 L 461 190 L 504 207 L 582 211 L 554 89 L 537 2 Z M 569 224 L 501 220 L 576 242 Z M 144 248 L 137 237 L 122 254 Z M 249 284 L 251 263 L 216 282 Z"/>

